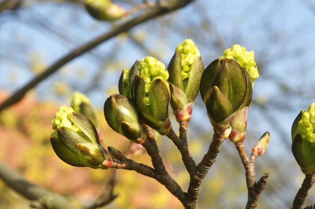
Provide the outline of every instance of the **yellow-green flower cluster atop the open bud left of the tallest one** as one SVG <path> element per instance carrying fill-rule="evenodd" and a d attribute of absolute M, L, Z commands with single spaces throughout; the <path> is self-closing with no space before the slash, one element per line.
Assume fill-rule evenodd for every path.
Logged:
<path fill-rule="evenodd" d="M 167 80 L 169 78 L 169 72 L 165 70 L 165 65 L 163 62 L 158 61 L 157 58 L 152 56 L 146 56 L 141 59 L 138 66 L 139 74 L 146 83 L 146 96 L 148 96 L 151 83 L 157 78 L 162 78 Z M 149 101 L 147 97 L 146 102 Z"/>

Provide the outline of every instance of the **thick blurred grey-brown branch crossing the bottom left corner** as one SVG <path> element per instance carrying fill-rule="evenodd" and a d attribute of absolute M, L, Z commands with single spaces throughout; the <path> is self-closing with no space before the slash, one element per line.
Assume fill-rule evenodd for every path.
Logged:
<path fill-rule="evenodd" d="M 46 208 L 75 208 L 65 197 L 28 182 L 2 161 L 0 161 L 0 179 L 26 199 L 38 201 Z"/>

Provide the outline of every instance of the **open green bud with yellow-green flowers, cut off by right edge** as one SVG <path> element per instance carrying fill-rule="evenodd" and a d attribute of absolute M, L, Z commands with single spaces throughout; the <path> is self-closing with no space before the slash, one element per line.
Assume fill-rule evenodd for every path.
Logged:
<path fill-rule="evenodd" d="M 304 174 L 315 174 L 315 103 L 295 118 L 292 129 L 292 153 Z"/>

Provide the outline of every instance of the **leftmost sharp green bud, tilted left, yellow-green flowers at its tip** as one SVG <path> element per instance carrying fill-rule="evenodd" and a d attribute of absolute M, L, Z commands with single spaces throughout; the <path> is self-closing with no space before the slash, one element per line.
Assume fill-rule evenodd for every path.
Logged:
<path fill-rule="evenodd" d="M 50 142 L 61 160 L 78 167 L 102 168 L 108 156 L 100 147 L 95 126 L 86 116 L 76 113 L 71 107 L 61 106 L 52 124 L 55 132 Z"/>

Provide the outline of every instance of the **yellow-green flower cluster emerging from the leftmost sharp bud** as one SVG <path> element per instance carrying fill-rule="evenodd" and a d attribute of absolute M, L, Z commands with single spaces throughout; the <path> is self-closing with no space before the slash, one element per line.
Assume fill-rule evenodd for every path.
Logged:
<path fill-rule="evenodd" d="M 61 106 L 58 109 L 58 112 L 55 114 L 55 118 L 51 121 L 53 124 L 54 133 L 51 134 L 51 137 L 58 139 L 58 128 L 60 127 L 68 127 L 76 132 L 80 132 L 80 129 L 74 125 L 71 120 L 71 113 L 74 110 L 71 107 Z"/>

